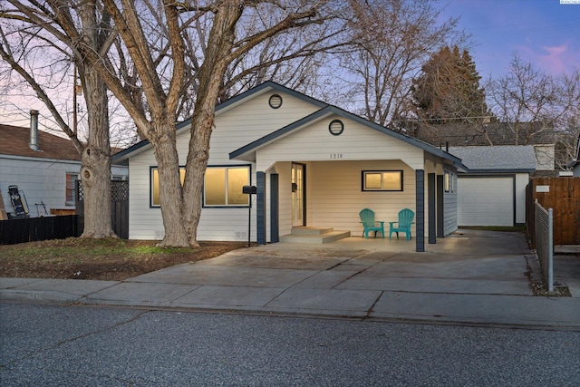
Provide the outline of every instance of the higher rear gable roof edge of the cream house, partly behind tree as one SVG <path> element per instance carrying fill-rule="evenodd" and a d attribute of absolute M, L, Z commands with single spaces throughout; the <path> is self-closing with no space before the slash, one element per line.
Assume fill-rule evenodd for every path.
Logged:
<path fill-rule="evenodd" d="M 324 102 L 321 102 L 319 100 L 316 100 L 315 98 L 309 97 L 301 92 L 296 92 L 295 90 L 292 89 L 288 89 L 287 87 L 276 83 L 276 82 L 272 82 L 272 81 L 267 81 L 264 83 L 259 84 L 258 86 L 248 90 L 247 92 L 242 92 L 241 94 L 238 94 L 235 97 L 230 98 L 229 100 L 227 100 L 226 102 L 222 102 L 220 104 L 218 104 L 218 106 L 216 106 L 216 115 L 227 111 L 229 109 L 232 109 L 233 107 L 237 106 L 239 103 L 241 102 L 245 102 L 249 99 L 253 99 L 256 98 L 259 95 L 262 95 L 265 92 L 269 92 L 269 91 L 278 91 L 278 92 L 285 92 L 287 94 L 290 94 L 304 102 L 309 102 L 314 104 L 315 106 L 318 106 L 320 108 L 326 106 L 326 104 Z M 191 124 L 191 119 L 186 120 L 186 121 L 182 121 L 179 122 L 177 124 L 176 127 L 176 131 L 183 131 L 186 128 L 189 128 L 189 125 Z M 142 140 L 140 142 L 138 142 L 137 144 L 133 145 L 130 148 L 127 148 L 126 150 L 122 150 L 121 152 L 115 154 L 112 157 L 112 161 L 115 164 L 120 164 L 125 160 L 128 160 L 132 154 L 134 154 L 137 151 L 142 151 L 147 149 L 147 147 L 150 146 L 150 142 L 149 140 Z"/>

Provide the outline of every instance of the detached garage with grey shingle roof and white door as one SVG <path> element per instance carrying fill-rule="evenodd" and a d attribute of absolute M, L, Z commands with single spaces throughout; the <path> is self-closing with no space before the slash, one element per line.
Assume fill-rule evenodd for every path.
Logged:
<path fill-rule="evenodd" d="M 532 145 L 450 147 L 469 173 L 458 179 L 458 226 L 526 223 L 526 186 L 537 165 Z"/>

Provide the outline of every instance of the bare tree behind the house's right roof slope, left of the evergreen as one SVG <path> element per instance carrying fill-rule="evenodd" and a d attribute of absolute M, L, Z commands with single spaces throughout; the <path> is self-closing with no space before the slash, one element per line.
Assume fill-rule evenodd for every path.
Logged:
<path fill-rule="evenodd" d="M 455 38 L 456 19 L 440 22 L 430 0 L 352 0 L 355 48 L 344 53 L 343 95 L 362 116 L 391 125 L 411 110 L 411 80 L 430 53 Z M 391 125 L 392 126 L 392 125 Z M 396 126 L 396 125 L 394 125 Z"/>

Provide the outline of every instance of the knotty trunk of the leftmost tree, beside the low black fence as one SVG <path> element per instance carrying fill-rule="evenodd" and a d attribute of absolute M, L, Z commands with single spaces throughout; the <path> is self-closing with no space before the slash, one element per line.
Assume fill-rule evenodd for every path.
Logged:
<path fill-rule="evenodd" d="M 82 152 L 84 230 L 81 237 L 116 237 L 111 227 L 111 146 L 107 87 L 92 69 L 82 69 L 89 140 Z"/>

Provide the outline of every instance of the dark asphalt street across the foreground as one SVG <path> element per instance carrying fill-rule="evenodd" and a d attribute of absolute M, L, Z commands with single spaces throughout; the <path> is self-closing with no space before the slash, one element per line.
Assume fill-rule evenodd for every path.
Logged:
<path fill-rule="evenodd" d="M 0 304 L 2 386 L 577 386 L 580 333 Z"/>

